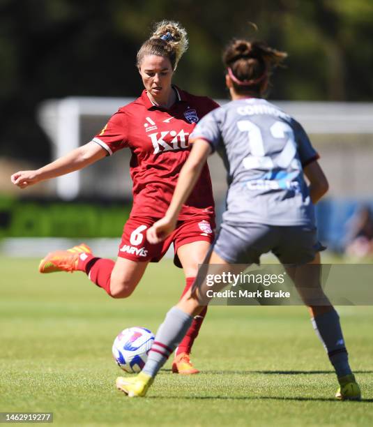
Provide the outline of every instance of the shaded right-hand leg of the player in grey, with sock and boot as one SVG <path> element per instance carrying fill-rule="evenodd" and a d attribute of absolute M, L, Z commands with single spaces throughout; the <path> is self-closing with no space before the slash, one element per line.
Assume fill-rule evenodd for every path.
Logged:
<path fill-rule="evenodd" d="M 303 256 L 302 250 L 299 250 L 298 254 L 300 257 Z M 336 397 L 349 400 L 360 399 L 360 387 L 349 366 L 340 317 L 321 287 L 319 252 L 307 264 L 298 267 L 285 266 L 285 268 L 310 311 L 314 331 L 328 353 L 330 363 L 337 374 L 340 389 L 338 389 Z"/>

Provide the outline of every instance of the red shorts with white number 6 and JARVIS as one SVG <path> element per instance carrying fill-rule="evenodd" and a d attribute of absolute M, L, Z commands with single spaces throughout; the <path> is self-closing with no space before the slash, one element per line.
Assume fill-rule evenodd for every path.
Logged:
<path fill-rule="evenodd" d="M 174 244 L 174 264 L 181 267 L 178 260 L 177 250 L 180 246 L 192 243 L 193 241 L 208 241 L 212 244 L 214 232 L 211 218 L 191 218 L 190 220 L 179 221 L 172 234 L 159 244 L 152 245 L 146 240 L 146 230 L 159 218 L 146 218 L 134 216 L 128 218 L 123 227 L 121 245 L 118 256 L 132 261 L 158 262 L 167 252 L 169 246 Z"/>

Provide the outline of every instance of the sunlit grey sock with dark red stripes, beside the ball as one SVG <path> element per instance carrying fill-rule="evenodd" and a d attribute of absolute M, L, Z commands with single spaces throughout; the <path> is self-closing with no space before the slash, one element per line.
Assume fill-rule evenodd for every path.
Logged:
<path fill-rule="evenodd" d="M 142 372 L 155 377 L 170 354 L 180 344 L 192 324 L 193 317 L 180 308 L 172 307 L 155 335 L 154 343 Z"/>

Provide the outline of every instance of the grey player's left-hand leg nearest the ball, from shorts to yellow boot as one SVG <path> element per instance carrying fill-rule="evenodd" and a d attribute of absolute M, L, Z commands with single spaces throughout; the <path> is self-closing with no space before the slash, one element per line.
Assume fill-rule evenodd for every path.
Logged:
<path fill-rule="evenodd" d="M 206 277 L 210 275 L 213 277 L 215 274 L 221 277 L 224 272 L 238 273 L 247 267 L 242 264 L 259 262 L 260 254 L 269 250 L 268 247 L 271 248 L 271 241 L 268 241 L 270 231 L 268 227 L 254 224 L 249 227 L 232 227 L 230 225 L 222 227 L 213 244 L 213 250 L 208 252 L 204 260 L 204 264 L 208 264 L 208 267 L 199 271 L 192 290 L 188 291 L 183 299 L 167 313 L 165 321 L 157 331 L 142 373 L 137 377 L 117 378 L 116 387 L 128 396 L 146 394 L 158 370 L 165 364 L 190 328 L 194 316 L 198 315 L 211 299 L 206 291 L 218 292 L 227 284 L 219 282 L 211 286 L 211 283 L 207 283 Z M 238 228 L 240 230 L 236 231 Z"/>

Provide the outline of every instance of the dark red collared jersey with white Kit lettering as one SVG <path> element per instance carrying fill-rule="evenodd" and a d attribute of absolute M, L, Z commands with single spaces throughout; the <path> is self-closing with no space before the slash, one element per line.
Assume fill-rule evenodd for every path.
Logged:
<path fill-rule="evenodd" d="M 119 108 L 102 132 L 93 138 L 109 155 L 125 147 L 132 151 L 131 215 L 165 216 L 178 174 L 190 153 L 188 137 L 197 121 L 219 106 L 206 96 L 194 96 L 173 88 L 176 102 L 168 110 L 154 105 L 144 90 L 137 100 Z M 178 219 L 213 213 L 213 190 L 206 164 Z"/>

